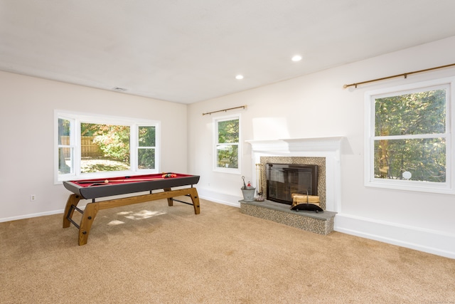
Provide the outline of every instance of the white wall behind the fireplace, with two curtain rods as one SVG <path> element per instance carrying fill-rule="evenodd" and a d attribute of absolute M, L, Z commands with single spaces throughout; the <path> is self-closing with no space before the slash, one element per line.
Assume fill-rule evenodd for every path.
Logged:
<path fill-rule="evenodd" d="M 363 184 L 365 91 L 455 76 L 455 68 L 343 89 L 349 83 L 455 63 L 454 48 L 455 37 L 451 37 L 190 105 L 188 169 L 200 174 L 200 197 L 239 206 L 241 176 L 250 179 L 254 169 L 250 145 L 244 143 L 242 174 L 213 172 L 213 117 L 241 112 L 244 141 L 344 136 L 336 230 L 455 258 L 454 195 L 375 189 Z M 248 81 L 245 76 L 243 81 Z M 247 109 L 201 115 L 240 105 L 247 105 Z"/>

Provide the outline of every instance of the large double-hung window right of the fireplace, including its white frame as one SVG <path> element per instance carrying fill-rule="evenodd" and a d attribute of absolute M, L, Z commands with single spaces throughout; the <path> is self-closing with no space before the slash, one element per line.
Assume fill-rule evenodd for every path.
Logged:
<path fill-rule="evenodd" d="M 365 186 L 454 193 L 453 81 L 365 94 Z"/>

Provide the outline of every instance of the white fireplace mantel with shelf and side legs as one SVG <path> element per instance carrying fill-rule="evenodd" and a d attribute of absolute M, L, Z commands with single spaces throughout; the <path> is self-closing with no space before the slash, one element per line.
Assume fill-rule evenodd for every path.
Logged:
<path fill-rule="evenodd" d="M 326 210 L 341 211 L 341 143 L 345 137 L 291 138 L 284 140 L 247 140 L 252 149 L 252 177 L 263 156 L 325 157 Z"/>

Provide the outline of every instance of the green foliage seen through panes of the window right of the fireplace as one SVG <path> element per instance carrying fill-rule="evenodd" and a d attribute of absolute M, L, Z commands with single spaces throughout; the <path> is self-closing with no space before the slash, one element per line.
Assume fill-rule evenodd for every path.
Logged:
<path fill-rule="evenodd" d="M 376 98 L 375 178 L 446 182 L 445 132 L 445 89 Z"/>

